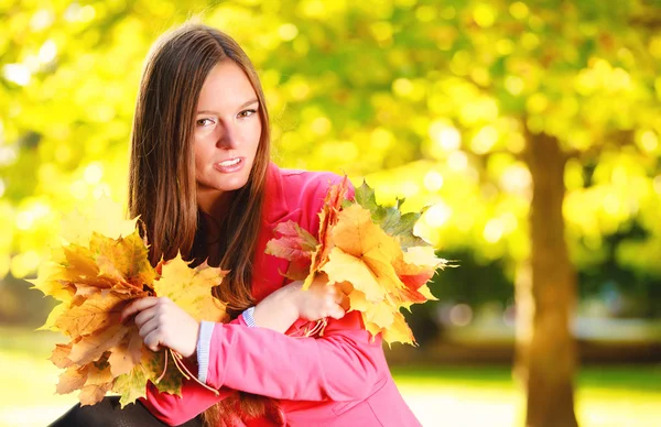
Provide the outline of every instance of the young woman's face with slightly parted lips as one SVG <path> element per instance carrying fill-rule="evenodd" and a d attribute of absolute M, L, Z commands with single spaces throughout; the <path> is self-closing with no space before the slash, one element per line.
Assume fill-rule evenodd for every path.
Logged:
<path fill-rule="evenodd" d="M 257 94 L 234 62 L 219 63 L 205 80 L 194 134 L 198 193 L 223 194 L 245 186 L 259 145 L 261 120 Z"/>

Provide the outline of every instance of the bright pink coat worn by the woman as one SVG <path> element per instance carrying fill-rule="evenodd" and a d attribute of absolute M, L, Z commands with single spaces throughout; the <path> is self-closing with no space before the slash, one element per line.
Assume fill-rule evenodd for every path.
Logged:
<path fill-rule="evenodd" d="M 273 228 L 294 220 L 313 236 L 330 173 L 280 169 L 270 165 L 262 227 L 258 238 L 252 293 L 259 302 L 285 284 L 288 261 L 264 254 Z M 290 332 L 301 328 L 297 321 Z M 193 371 L 195 372 L 195 371 Z M 210 344 L 207 384 L 220 396 L 184 381 L 182 397 L 159 394 L 152 384 L 143 404 L 169 425 L 194 418 L 234 390 L 279 399 L 286 426 L 420 426 L 397 390 L 381 347 L 364 329 L 360 314 L 330 319 L 323 337 L 293 338 L 249 328 L 239 316 L 217 324 Z M 250 420 L 245 426 L 273 426 Z"/>

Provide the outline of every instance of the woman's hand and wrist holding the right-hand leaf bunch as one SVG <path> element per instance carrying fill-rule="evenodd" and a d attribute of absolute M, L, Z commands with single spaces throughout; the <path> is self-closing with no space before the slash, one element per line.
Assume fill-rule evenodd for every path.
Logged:
<path fill-rule="evenodd" d="M 340 319 L 349 309 L 350 285 L 328 285 L 328 277 L 319 274 L 307 291 L 302 287 L 303 282 L 292 282 L 266 297 L 254 307 L 254 322 L 284 333 L 299 318 L 311 321 L 324 317 Z"/>

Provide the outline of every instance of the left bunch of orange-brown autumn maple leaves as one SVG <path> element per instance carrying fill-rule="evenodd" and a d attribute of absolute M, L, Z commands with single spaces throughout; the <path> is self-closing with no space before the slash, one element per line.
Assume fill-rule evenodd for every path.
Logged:
<path fill-rule="evenodd" d="M 145 396 L 148 380 L 160 392 L 181 395 L 182 379 L 196 380 L 178 353 L 149 350 L 134 324 L 120 321 L 133 299 L 166 296 L 197 320 L 226 318 L 212 287 L 227 272 L 206 263 L 191 269 L 181 255 L 154 269 L 137 219 L 119 218 L 121 209 L 110 200 L 99 201 L 91 218 L 69 216 L 63 221 L 65 241 L 53 249 L 33 281 L 35 288 L 59 302 L 40 329 L 71 339 L 56 344 L 51 357 L 65 370 L 56 391 L 79 390 L 82 405 L 94 405 L 115 392 L 123 407 Z"/>

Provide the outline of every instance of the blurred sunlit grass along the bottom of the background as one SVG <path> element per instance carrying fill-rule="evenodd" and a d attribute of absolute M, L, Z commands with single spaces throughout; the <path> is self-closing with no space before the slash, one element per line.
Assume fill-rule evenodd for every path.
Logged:
<path fill-rule="evenodd" d="M 75 402 L 54 394 L 58 370 L 46 360 L 57 336 L 0 329 L 0 427 L 45 426 Z M 522 425 L 523 399 L 508 366 L 395 368 L 402 395 L 424 426 Z M 583 368 L 576 413 L 582 427 L 655 427 L 661 365 Z"/>

